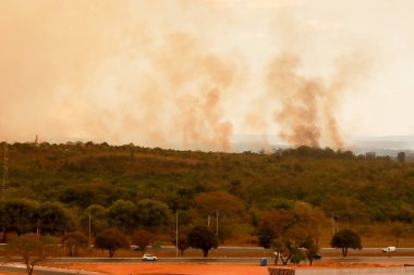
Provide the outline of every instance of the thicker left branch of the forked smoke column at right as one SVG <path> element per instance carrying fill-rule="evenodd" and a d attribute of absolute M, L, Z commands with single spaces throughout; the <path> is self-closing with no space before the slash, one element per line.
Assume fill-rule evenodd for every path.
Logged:
<path fill-rule="evenodd" d="M 297 74 L 301 60 L 296 55 L 284 54 L 276 58 L 267 75 L 270 92 L 280 100 L 281 110 L 276 112 L 275 120 L 280 124 L 280 137 L 290 145 L 319 147 L 322 126 L 318 113 L 321 102 L 327 99 L 329 90 L 318 79 L 307 79 Z M 327 112 L 329 121 L 333 121 Z M 330 132 L 337 132 L 334 123 Z M 338 137 L 339 138 L 339 137 Z M 342 140 L 334 140 L 342 146 Z"/>

